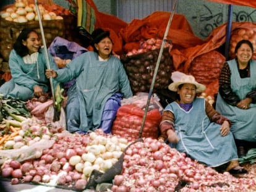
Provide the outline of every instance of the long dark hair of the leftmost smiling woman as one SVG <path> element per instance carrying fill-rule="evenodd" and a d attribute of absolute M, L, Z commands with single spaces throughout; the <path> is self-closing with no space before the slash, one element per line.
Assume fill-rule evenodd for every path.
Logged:
<path fill-rule="evenodd" d="M 27 56 L 28 54 L 28 48 L 27 46 L 23 45 L 22 41 L 26 41 L 31 32 L 35 32 L 36 34 L 38 34 L 35 30 L 31 28 L 23 29 L 14 43 L 14 50 L 20 57 Z"/>

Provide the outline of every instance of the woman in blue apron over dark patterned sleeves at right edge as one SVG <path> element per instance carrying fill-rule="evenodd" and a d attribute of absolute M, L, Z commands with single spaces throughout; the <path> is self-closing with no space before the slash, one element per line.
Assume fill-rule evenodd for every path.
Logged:
<path fill-rule="evenodd" d="M 238 154 L 245 156 L 256 147 L 256 61 L 252 60 L 254 47 L 241 40 L 235 48 L 236 58 L 227 61 L 219 78 L 216 110 L 231 120 Z"/>

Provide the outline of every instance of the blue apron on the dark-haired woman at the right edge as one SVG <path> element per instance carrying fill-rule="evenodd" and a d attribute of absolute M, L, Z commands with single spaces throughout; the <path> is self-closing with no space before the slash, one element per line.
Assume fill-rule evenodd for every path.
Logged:
<path fill-rule="evenodd" d="M 256 61 L 250 61 L 250 77 L 241 78 L 236 59 L 228 61 L 231 70 L 231 88 L 239 98 L 245 99 L 246 94 L 256 88 Z M 216 110 L 231 120 L 231 132 L 237 140 L 256 142 L 256 104 L 251 103 L 249 109 L 231 106 L 218 93 Z"/>

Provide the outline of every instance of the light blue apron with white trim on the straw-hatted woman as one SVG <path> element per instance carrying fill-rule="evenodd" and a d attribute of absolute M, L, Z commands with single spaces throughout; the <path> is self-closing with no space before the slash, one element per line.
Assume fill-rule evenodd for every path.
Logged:
<path fill-rule="evenodd" d="M 189 111 L 182 109 L 176 101 L 168 104 L 164 111 L 174 114 L 174 129 L 179 142 L 171 146 L 178 151 L 210 167 L 238 158 L 232 133 L 221 136 L 221 125 L 210 122 L 205 112 L 205 99 L 195 98 Z"/>

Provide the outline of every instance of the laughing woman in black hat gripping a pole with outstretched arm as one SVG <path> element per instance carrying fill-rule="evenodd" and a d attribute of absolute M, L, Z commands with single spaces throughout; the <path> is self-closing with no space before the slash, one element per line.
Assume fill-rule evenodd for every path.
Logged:
<path fill-rule="evenodd" d="M 65 68 L 47 70 L 46 76 L 59 82 L 75 78 L 68 90 L 66 106 L 67 130 L 87 133 L 102 128 L 111 132 L 121 99 L 132 96 L 130 83 L 121 61 L 112 55 L 109 31 L 93 31 L 93 51 L 75 57 Z"/>

